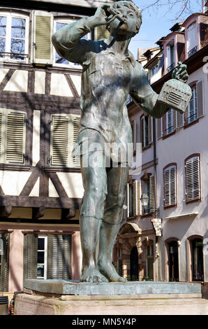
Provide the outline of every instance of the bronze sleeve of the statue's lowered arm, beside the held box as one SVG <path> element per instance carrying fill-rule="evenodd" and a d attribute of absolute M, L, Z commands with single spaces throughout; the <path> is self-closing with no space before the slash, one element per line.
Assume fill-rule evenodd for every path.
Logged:
<path fill-rule="evenodd" d="M 130 94 L 133 102 L 154 118 L 161 118 L 169 109 L 165 104 L 157 102 L 158 94 L 149 85 L 147 74 L 138 62 L 136 62 L 133 87 Z"/>

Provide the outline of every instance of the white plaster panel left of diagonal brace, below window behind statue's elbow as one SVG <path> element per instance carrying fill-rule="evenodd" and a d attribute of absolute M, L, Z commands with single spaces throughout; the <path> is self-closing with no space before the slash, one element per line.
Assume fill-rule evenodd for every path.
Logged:
<path fill-rule="evenodd" d="M 70 90 L 64 74 L 51 74 L 50 94 L 62 97 L 73 97 L 73 93 Z"/>

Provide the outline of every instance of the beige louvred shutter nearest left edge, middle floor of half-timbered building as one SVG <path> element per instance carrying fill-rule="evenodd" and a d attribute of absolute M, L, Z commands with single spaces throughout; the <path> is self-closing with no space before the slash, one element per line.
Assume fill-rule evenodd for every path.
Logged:
<path fill-rule="evenodd" d="M 6 163 L 24 163 L 26 113 L 10 111 L 6 125 Z"/>

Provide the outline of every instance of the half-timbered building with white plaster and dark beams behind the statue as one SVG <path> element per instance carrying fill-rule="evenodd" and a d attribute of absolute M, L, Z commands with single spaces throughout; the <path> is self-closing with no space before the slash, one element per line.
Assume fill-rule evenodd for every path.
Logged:
<path fill-rule="evenodd" d="M 82 66 L 51 36 L 112 0 L 5 0 L 0 4 L 0 291 L 26 278 L 79 279 Z M 100 38 L 103 29 L 85 38 Z"/>

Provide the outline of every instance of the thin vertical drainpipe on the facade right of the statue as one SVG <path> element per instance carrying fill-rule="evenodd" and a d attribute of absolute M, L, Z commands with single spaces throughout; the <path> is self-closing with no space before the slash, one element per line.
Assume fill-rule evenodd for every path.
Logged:
<path fill-rule="evenodd" d="M 157 172 L 156 172 L 156 119 L 153 118 L 153 147 L 154 147 L 154 204 L 155 218 L 158 218 L 158 203 L 157 203 Z M 158 260 L 158 281 L 161 281 L 161 237 L 156 236 L 156 257 Z"/>

